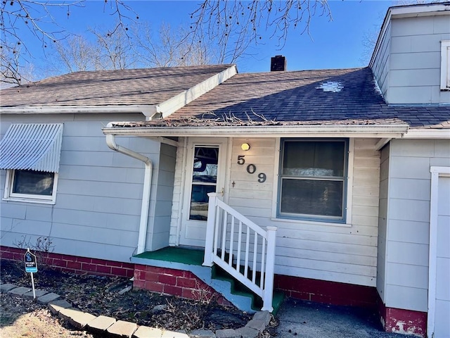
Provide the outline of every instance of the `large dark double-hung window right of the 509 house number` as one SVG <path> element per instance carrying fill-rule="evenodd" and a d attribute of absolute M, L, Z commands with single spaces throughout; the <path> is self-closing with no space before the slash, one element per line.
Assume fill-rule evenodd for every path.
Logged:
<path fill-rule="evenodd" d="M 278 217 L 345 223 L 348 139 L 283 139 Z"/>

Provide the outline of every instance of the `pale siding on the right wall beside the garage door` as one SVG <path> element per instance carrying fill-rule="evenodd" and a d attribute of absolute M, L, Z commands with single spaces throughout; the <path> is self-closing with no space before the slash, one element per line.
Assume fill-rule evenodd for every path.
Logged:
<path fill-rule="evenodd" d="M 380 199 L 387 207 L 380 208 L 378 292 L 387 307 L 426 312 L 430 166 L 450 166 L 450 141 L 392 140 L 387 163 L 388 169 L 382 165 L 389 182 Z"/>

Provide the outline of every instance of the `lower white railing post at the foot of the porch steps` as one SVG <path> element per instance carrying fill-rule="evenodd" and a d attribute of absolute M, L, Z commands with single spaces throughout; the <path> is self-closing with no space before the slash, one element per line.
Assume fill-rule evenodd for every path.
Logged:
<path fill-rule="evenodd" d="M 275 267 L 275 242 L 276 227 L 266 227 L 267 231 L 267 253 L 266 253 L 266 271 L 264 277 L 264 294 L 262 297 L 263 305 L 261 311 L 274 311 L 272 299 L 274 298 L 274 267 Z"/>

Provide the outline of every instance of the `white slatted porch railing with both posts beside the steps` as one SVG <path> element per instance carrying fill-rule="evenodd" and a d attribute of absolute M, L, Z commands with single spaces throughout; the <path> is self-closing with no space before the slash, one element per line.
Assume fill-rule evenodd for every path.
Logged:
<path fill-rule="evenodd" d="M 224 204 L 216 193 L 208 196 L 210 202 L 203 265 L 219 265 L 262 298 L 262 311 L 272 312 L 277 228 L 266 227 L 264 230 Z"/>

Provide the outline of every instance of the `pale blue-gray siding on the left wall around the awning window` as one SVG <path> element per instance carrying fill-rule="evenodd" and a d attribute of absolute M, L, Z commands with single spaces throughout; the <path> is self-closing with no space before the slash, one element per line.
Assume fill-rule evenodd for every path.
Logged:
<path fill-rule="evenodd" d="M 129 262 L 138 241 L 143 163 L 110 150 L 101 127 L 111 120 L 139 118 L 139 114 L 39 115 L 41 122 L 64 123 L 58 198 L 54 205 L 1 201 L 1 244 L 14 246 L 24 234 L 32 243 L 49 236 L 56 253 Z M 36 116 L 2 115 L 1 134 L 13 120 L 30 123 Z M 117 143 L 150 156 L 159 170 L 158 142 L 117 137 Z M 6 170 L 1 170 L 0 178 L 4 189 Z"/>

